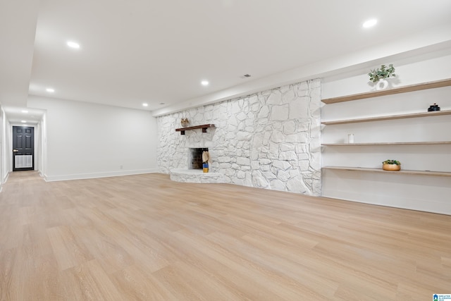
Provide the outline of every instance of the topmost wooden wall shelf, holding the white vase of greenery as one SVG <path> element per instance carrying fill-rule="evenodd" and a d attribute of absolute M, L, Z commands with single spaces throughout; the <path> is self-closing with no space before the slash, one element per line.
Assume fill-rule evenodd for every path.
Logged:
<path fill-rule="evenodd" d="M 342 96 L 342 97 L 326 98 L 326 99 L 322 99 L 321 102 L 323 102 L 324 104 L 336 104 L 338 102 L 350 102 L 352 100 L 358 100 L 358 99 L 366 99 L 366 98 L 371 98 L 371 97 L 393 95 L 393 94 L 413 92 L 413 91 L 419 91 L 419 90 L 427 90 L 427 89 L 433 89 L 433 88 L 438 88 L 438 87 L 447 87 L 447 86 L 451 86 L 451 78 L 446 79 L 446 80 L 435 80 L 433 82 L 424 82 L 424 83 L 416 84 L 416 85 L 407 85 L 404 87 L 397 87 L 397 88 L 388 89 L 388 90 L 378 90 L 378 91 L 373 91 L 373 92 L 364 92 L 364 93 L 359 93 L 359 94 L 346 95 L 346 96 Z"/>

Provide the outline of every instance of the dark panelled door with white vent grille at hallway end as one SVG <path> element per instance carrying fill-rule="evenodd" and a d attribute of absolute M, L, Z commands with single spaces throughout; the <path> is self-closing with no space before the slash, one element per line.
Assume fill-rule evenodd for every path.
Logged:
<path fill-rule="evenodd" d="M 13 171 L 35 169 L 35 128 L 13 126 Z"/>

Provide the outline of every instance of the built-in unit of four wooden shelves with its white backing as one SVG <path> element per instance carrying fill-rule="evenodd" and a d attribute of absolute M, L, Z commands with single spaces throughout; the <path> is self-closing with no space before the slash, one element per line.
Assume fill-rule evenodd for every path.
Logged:
<path fill-rule="evenodd" d="M 450 86 L 447 79 L 322 99 L 323 197 L 451 214 Z M 435 102 L 443 111 L 427 111 Z M 346 143 L 350 133 L 357 143 Z M 402 169 L 384 171 L 385 159 Z"/>

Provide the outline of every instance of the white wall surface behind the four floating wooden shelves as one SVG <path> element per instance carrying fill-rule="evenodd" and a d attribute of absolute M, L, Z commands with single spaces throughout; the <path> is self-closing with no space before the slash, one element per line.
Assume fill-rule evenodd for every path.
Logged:
<path fill-rule="evenodd" d="M 451 78 L 451 49 L 393 63 L 393 87 Z M 377 67 L 377 66 L 374 66 Z M 373 90 L 369 70 L 325 78 L 322 98 Z M 359 99 L 323 105 L 322 121 L 425 112 L 433 103 L 451 110 L 451 87 Z M 451 116 L 408 118 L 323 126 L 322 143 L 344 143 L 353 133 L 359 142 L 451 141 Z M 323 147 L 322 166 L 381 168 L 385 159 L 397 159 L 404 170 L 451 172 L 451 145 L 390 145 Z M 421 211 L 451 214 L 451 177 L 367 173 L 323 169 L 323 196 Z"/>

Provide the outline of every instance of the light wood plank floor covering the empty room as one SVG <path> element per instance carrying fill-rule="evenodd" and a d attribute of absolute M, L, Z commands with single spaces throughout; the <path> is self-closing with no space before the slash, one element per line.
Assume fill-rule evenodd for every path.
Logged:
<path fill-rule="evenodd" d="M 450 199 L 451 201 L 451 199 Z M 0 193 L 0 300 L 432 300 L 451 216 L 147 174 Z"/>

